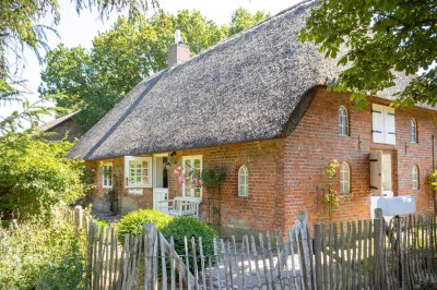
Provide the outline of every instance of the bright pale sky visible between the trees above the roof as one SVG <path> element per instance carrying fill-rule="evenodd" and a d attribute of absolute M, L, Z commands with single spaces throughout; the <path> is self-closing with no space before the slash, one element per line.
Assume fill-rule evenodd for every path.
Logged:
<path fill-rule="evenodd" d="M 300 0 L 158 0 L 165 12 L 177 13 L 179 10 L 199 10 L 202 14 L 218 24 L 225 24 L 231 21 L 232 13 L 238 8 L 245 8 L 250 12 L 262 10 L 272 15 L 284 9 L 299 2 Z M 74 1 L 73 1 L 74 2 Z M 75 12 L 75 7 L 71 0 L 59 0 L 61 21 L 55 27 L 59 37 L 50 35 L 48 44 L 55 48 L 63 43 L 67 47 L 82 46 L 86 49 L 92 47 L 93 38 L 99 32 L 106 32 L 116 21 L 119 14 L 113 13 L 108 20 L 102 22 L 97 13 L 84 10 L 80 15 Z M 152 13 L 151 11 L 150 13 Z M 44 65 L 44 64 L 43 64 Z M 37 89 L 40 84 L 40 71 L 43 67 L 38 62 L 33 51 L 25 51 L 25 68 L 22 71 L 22 77 L 27 81 L 31 101 L 38 99 Z M 15 110 L 16 105 L 0 106 L 0 116 L 9 116 Z M 49 118 L 48 118 L 49 119 Z M 48 120 L 47 120 L 48 121 Z"/>

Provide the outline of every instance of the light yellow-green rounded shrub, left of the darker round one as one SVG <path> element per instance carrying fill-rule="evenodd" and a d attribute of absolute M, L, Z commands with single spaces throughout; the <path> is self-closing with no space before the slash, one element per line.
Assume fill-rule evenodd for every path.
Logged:
<path fill-rule="evenodd" d="M 169 215 L 155 209 L 131 212 L 117 223 L 118 238 L 122 241 L 126 233 L 140 235 L 145 223 L 154 223 L 156 229 L 161 231 L 172 219 Z"/>

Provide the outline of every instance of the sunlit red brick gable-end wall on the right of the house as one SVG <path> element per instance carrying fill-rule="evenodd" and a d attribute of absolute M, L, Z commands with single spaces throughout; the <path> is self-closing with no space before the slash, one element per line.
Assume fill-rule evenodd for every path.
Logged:
<path fill-rule="evenodd" d="M 388 105 L 380 99 L 370 101 Z M 350 116 L 350 136 L 339 136 L 338 109 L 346 107 Z M 370 217 L 369 153 L 381 149 L 392 154 L 392 184 L 394 195 L 412 194 L 416 197 L 418 213 L 433 210 L 432 194 L 425 177 L 432 171 L 432 135 L 436 113 L 413 108 L 395 110 L 397 144 L 374 144 L 371 138 L 371 107 L 355 109 L 347 94 L 316 90 L 316 96 L 294 132 L 284 142 L 284 196 L 285 225 L 292 226 L 300 210 L 309 213 L 310 221 L 323 220 L 323 210 L 316 203 L 317 189 L 323 167 L 332 159 L 349 162 L 351 167 L 351 194 L 343 194 L 344 202 L 334 210 L 333 218 L 342 220 Z M 418 143 L 410 143 L 410 120 L 417 121 Z M 358 135 L 362 144 L 358 148 Z M 408 153 L 405 155 L 405 142 Z M 411 170 L 420 168 L 420 190 L 412 191 Z M 340 190 L 339 177 L 335 190 Z"/>

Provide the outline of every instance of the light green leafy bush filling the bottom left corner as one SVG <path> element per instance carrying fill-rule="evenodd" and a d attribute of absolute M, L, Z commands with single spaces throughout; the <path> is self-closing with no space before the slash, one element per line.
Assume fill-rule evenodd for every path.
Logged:
<path fill-rule="evenodd" d="M 84 288 L 83 241 L 61 218 L 0 225 L 0 289 Z"/>

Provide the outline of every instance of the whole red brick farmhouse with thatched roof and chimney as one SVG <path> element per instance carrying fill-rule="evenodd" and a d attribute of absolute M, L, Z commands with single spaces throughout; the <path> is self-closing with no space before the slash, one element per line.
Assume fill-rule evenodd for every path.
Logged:
<path fill-rule="evenodd" d="M 333 185 L 344 198 L 333 219 L 370 218 L 370 196 L 383 194 L 412 195 L 417 213 L 433 212 L 435 109 L 389 107 L 410 80 L 402 74 L 364 109 L 327 89 L 336 60 L 297 36 L 312 8 L 292 7 L 191 59 L 184 44 L 172 47 L 169 68 L 138 84 L 70 152 L 97 172 L 96 205 L 118 180 L 121 213 L 188 195 L 208 219 L 212 194 L 179 184 L 173 171 L 223 168 L 224 228 L 286 229 L 302 210 L 310 222 L 323 218 L 323 168 L 336 159 Z"/>

